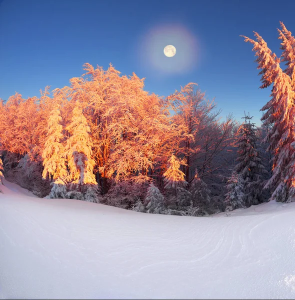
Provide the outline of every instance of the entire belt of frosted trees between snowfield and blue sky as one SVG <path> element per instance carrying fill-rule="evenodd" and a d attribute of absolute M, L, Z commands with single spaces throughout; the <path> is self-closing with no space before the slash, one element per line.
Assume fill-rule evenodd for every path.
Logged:
<path fill-rule="evenodd" d="M 258 33 L 243 36 L 260 88 L 271 86 L 258 127 L 251 111 L 222 119 L 197 83 L 162 97 L 135 73 L 85 63 L 68 86 L 0 101 L 0 182 L 39 197 L 190 216 L 292 201 L 295 38 L 280 25 L 280 56 Z"/>

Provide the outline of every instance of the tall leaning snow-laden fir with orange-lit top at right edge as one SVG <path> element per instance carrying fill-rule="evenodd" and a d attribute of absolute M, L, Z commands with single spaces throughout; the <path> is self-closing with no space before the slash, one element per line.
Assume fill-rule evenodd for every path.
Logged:
<path fill-rule="evenodd" d="M 255 32 L 257 41 L 245 37 L 245 41 L 252 43 L 256 52 L 258 68 L 262 85 L 261 88 L 268 87 L 273 83 L 271 99 L 261 108 L 266 110 L 261 120 L 264 125 L 272 124 L 271 130 L 266 136 L 269 141 L 267 150 L 274 153 L 272 159 L 272 176 L 264 185 L 270 188 L 272 198 L 281 201 L 288 201 L 294 192 L 295 182 L 295 92 L 291 85 L 290 77 L 282 71 L 279 66 L 279 58 L 270 51 L 266 42 Z M 293 146 L 294 145 L 294 146 Z M 287 186 L 285 197 L 278 196 L 282 192 L 283 183 Z"/>

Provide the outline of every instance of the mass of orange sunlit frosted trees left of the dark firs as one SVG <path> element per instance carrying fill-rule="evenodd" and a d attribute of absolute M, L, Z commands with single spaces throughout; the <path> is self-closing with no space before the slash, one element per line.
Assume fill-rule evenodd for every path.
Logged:
<path fill-rule="evenodd" d="M 114 184 L 128 181 L 130 187 L 120 190 L 129 190 L 157 178 L 163 187 L 173 154 L 186 181 L 192 165 L 204 176 L 224 166 L 212 164 L 231 143 L 232 118 L 219 122 L 215 104 L 194 90 L 195 83 L 163 98 L 146 92 L 144 79 L 120 75 L 111 64 L 106 70 L 83 67 L 85 73 L 68 86 L 51 93 L 47 86 L 39 98 L 15 93 L 0 103 L 5 168 L 26 155 L 25 161 L 43 166 L 43 178 L 53 180 L 53 194 L 65 196 L 61 185 L 85 193 L 83 186 L 99 186 L 104 194 Z"/>

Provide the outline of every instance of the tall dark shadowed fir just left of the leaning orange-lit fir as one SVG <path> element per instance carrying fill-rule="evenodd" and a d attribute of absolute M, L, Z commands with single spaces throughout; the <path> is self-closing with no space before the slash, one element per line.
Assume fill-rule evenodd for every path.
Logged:
<path fill-rule="evenodd" d="M 244 179 L 245 184 L 245 204 L 251 206 L 252 204 L 262 203 L 263 197 L 263 175 L 267 173 L 262 160 L 259 157 L 255 134 L 255 125 L 251 123 L 252 117 L 245 115 L 245 122 L 239 127 L 237 131 L 237 146 L 238 146 L 238 164 L 235 170 Z"/>

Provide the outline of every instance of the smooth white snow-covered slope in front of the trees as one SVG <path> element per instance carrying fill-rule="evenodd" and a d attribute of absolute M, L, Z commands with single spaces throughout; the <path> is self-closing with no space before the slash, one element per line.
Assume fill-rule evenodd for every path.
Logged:
<path fill-rule="evenodd" d="M 295 203 L 171 216 L 5 184 L 2 299 L 295 298 Z"/>

